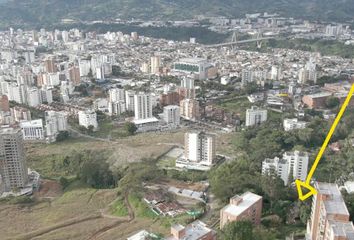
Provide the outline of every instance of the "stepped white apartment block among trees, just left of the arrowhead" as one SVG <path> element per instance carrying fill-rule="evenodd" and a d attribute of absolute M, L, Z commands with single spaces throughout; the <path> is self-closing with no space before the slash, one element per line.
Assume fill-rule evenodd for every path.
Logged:
<path fill-rule="evenodd" d="M 292 173 L 293 180 L 300 179 L 305 181 L 307 177 L 309 155 L 306 152 L 294 151 L 283 154 L 282 159 L 265 159 L 262 162 L 262 174 L 275 173 L 287 185 L 289 176 Z"/>

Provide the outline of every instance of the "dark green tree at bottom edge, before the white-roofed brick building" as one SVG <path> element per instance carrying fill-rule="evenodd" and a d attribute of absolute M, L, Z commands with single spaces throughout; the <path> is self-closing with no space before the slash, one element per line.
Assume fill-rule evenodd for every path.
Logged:
<path fill-rule="evenodd" d="M 249 221 L 237 221 L 227 224 L 222 229 L 223 240 L 250 240 L 253 238 L 253 226 Z"/>

